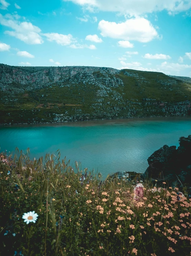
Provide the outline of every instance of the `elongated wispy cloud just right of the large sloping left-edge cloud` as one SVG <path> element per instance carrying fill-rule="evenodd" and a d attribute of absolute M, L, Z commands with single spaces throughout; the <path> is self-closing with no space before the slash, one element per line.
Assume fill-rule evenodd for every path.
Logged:
<path fill-rule="evenodd" d="M 74 41 L 73 36 L 71 34 L 62 35 L 58 33 L 46 33 L 43 35 L 47 37 L 48 41 L 55 41 L 57 44 L 61 45 L 69 45 Z"/>

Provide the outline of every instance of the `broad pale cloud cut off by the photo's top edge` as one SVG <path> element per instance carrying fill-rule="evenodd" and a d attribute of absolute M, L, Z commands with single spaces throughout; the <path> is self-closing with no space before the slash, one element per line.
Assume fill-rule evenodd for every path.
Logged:
<path fill-rule="evenodd" d="M 63 0 L 71 1 L 84 9 L 93 11 L 111 11 L 129 16 L 138 16 L 167 10 L 168 13 L 177 14 L 191 8 L 190 0 Z"/>

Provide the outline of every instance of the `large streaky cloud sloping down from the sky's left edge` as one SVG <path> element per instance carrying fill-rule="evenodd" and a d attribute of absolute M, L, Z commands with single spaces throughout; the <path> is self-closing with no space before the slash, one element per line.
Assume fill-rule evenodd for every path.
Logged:
<path fill-rule="evenodd" d="M 42 44 L 42 37 L 39 35 L 41 29 L 32 25 L 30 22 L 20 22 L 18 14 L 7 14 L 2 16 L 0 14 L 0 24 L 13 29 L 13 31 L 5 31 L 5 34 L 14 36 L 27 44 Z"/>

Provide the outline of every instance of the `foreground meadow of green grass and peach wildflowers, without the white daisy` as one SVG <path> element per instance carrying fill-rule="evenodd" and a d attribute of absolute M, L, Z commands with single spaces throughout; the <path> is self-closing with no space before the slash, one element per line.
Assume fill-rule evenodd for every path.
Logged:
<path fill-rule="evenodd" d="M 137 182 L 144 195 L 133 200 Z M 138 255 L 191 254 L 191 199 L 187 188 L 151 191 L 139 174 L 128 181 L 83 171 L 76 162 L 46 155 L 29 158 L 21 151 L 0 155 L 0 255 Z M 180 199 L 180 200 L 178 200 Z M 22 215 L 38 214 L 26 224 Z"/>

